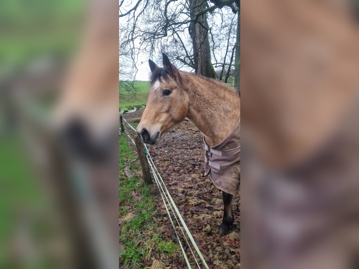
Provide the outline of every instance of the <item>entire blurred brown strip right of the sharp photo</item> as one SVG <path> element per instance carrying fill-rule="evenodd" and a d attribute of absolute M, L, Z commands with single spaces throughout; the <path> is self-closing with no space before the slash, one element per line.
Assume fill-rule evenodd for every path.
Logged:
<path fill-rule="evenodd" d="M 241 266 L 359 268 L 357 1 L 243 1 Z"/>

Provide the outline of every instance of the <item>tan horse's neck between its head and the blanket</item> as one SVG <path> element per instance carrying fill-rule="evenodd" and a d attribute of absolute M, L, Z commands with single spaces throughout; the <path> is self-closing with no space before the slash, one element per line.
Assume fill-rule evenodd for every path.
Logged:
<path fill-rule="evenodd" d="M 217 145 L 237 126 L 240 99 L 218 81 L 191 74 L 185 80 L 189 96 L 187 117 L 204 133 L 209 146 Z"/>

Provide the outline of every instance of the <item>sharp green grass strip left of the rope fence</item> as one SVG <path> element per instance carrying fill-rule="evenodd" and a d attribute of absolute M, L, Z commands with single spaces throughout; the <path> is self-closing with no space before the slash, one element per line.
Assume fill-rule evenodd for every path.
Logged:
<path fill-rule="evenodd" d="M 133 124 L 136 127 L 136 124 Z M 151 251 L 156 255 L 173 255 L 178 246 L 172 240 L 164 241 L 162 235 L 155 233 L 158 228 L 153 227 L 154 216 L 157 216 L 153 197 L 148 191 L 148 186 L 136 175 L 136 171 L 140 170 L 137 163 L 137 157 L 132 153 L 128 146 L 130 142 L 126 134 L 120 136 L 120 206 L 119 216 L 128 217 L 121 223 L 120 244 L 123 250 L 120 250 L 119 256 L 122 258 L 122 264 L 136 264 L 141 266 L 142 261 Z M 132 176 L 122 177 L 121 170 L 128 166 Z M 138 202 L 132 198 L 132 192 L 141 197 Z M 143 236 L 144 232 L 148 235 L 153 234 L 152 238 Z"/>

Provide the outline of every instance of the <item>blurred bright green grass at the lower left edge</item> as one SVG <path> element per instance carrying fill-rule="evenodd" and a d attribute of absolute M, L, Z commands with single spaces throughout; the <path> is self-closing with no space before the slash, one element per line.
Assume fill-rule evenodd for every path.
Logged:
<path fill-rule="evenodd" d="M 47 232 L 53 231 L 46 222 L 49 201 L 38 185 L 26 155 L 17 133 L 0 135 L 0 268 L 13 268 L 16 264 L 9 246 L 14 244 L 21 223 L 26 223 L 23 224 L 25 236 L 31 238 L 31 247 L 38 251 L 38 257 L 45 255 L 38 244 L 50 240 L 46 239 Z M 22 214 L 27 222 L 19 218 Z M 42 260 L 34 262 L 37 268 L 46 267 Z"/>

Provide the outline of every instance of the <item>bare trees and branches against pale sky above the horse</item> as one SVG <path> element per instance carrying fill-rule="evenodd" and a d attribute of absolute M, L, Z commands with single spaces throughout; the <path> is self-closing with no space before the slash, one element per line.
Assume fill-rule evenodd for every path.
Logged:
<path fill-rule="evenodd" d="M 132 55 L 147 53 L 156 58 L 154 50 L 161 48 L 177 66 L 206 77 L 216 78 L 214 67 L 221 67 L 222 75 L 217 78 L 228 81 L 231 70 L 234 71 L 239 1 L 139 0 L 129 6 L 123 3 L 120 18 L 126 20 L 123 19 L 120 30 L 127 31 L 128 37 L 122 44 L 130 48 Z"/>

